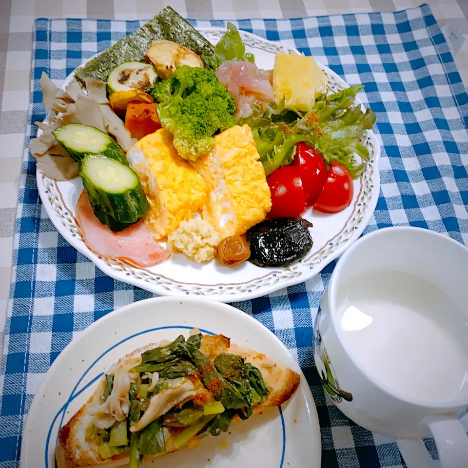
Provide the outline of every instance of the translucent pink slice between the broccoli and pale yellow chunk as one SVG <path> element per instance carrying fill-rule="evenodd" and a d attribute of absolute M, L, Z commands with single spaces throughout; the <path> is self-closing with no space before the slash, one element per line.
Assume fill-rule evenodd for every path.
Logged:
<path fill-rule="evenodd" d="M 249 117 L 252 105 L 274 100 L 272 71 L 261 71 L 254 63 L 227 60 L 216 70 L 219 81 L 235 100 L 234 117 Z"/>

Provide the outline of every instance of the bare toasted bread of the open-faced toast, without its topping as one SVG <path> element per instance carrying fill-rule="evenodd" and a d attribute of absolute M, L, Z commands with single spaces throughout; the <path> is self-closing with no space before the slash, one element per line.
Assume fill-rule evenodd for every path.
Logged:
<path fill-rule="evenodd" d="M 114 373 L 117 369 L 130 370 L 141 363 L 141 353 L 156 348 L 158 345 L 149 344 L 140 348 L 118 361 L 109 371 L 108 374 Z M 285 403 L 291 398 L 294 391 L 299 386 L 300 376 L 296 372 L 288 369 L 264 354 L 256 351 L 239 348 L 231 344 L 229 338 L 223 335 L 203 335 L 200 351 L 202 351 L 210 359 L 214 359 L 217 355 L 227 352 L 237 354 L 245 358 L 245 361 L 254 365 L 260 370 L 265 385 L 269 390 L 267 399 L 254 407 L 254 414 L 261 413 L 263 409 L 275 407 Z M 201 384 L 201 382 L 199 382 Z M 201 384 L 202 385 L 202 384 Z M 56 449 L 56 459 L 59 468 L 80 468 L 105 466 L 106 468 L 119 467 L 129 463 L 127 453 L 120 453 L 108 459 L 103 459 L 99 455 L 98 446 L 94 441 L 87 441 L 85 438 L 86 429 L 93 421 L 94 409 L 100 405 L 101 396 L 104 392 L 105 379 L 103 378 L 98 388 L 89 398 L 87 403 L 70 419 L 70 421 L 59 430 L 59 441 Z M 236 416 L 233 423 L 240 419 Z M 180 429 L 169 428 L 165 433 L 166 451 L 169 453 L 175 451 L 176 448 L 172 441 L 172 437 Z M 191 445 L 190 441 L 186 445 Z M 153 460 L 156 455 L 145 456 L 144 461 Z"/>

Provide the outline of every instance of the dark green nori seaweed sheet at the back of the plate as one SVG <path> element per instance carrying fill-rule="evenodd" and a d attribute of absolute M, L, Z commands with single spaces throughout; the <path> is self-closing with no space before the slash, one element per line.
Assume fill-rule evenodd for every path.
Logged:
<path fill-rule="evenodd" d="M 75 77 L 81 82 L 86 77 L 107 81 L 113 68 L 123 62 L 144 61 L 151 43 L 162 39 L 172 40 L 193 50 L 205 63 L 210 63 L 215 52 L 207 39 L 173 8 L 167 6 L 137 31 L 120 39 L 83 67 L 77 68 Z"/>

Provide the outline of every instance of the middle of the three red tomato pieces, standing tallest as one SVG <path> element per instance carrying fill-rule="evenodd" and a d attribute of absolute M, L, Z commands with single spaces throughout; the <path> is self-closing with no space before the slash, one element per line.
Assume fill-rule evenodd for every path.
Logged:
<path fill-rule="evenodd" d="M 327 180 L 327 167 L 322 156 L 312 146 L 300 141 L 296 145 L 292 164 L 299 170 L 306 202 L 313 202 Z"/>

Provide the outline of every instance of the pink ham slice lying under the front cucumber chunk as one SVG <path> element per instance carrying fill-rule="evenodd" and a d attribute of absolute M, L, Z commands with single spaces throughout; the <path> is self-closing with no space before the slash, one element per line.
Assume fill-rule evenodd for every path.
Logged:
<path fill-rule="evenodd" d="M 171 256 L 153 239 L 142 221 L 118 233 L 101 224 L 85 190 L 78 200 L 77 221 L 84 243 L 97 255 L 114 258 L 133 267 L 152 267 Z"/>

